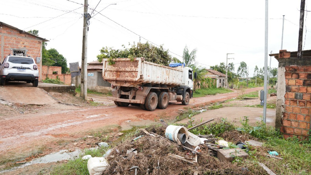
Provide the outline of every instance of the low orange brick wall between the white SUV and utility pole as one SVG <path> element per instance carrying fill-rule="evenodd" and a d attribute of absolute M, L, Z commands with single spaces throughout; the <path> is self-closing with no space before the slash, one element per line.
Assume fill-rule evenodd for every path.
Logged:
<path fill-rule="evenodd" d="M 53 74 L 58 72 L 58 74 Z M 71 85 L 71 74 L 62 73 L 62 67 L 59 66 L 42 66 L 42 79 L 49 77 L 49 79 L 60 79 L 65 85 Z"/>

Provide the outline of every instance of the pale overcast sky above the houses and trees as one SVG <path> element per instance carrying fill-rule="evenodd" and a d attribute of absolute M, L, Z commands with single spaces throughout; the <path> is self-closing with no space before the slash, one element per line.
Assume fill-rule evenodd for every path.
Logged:
<path fill-rule="evenodd" d="M 236 63 L 235 70 L 240 62 L 246 62 L 250 76 L 256 65 L 264 66 L 264 0 L 89 0 L 89 7 L 95 8 L 98 2 L 96 11 L 111 3 L 117 5 L 110 5 L 102 15 L 91 18 L 88 62 L 96 60 L 103 46 L 121 49 L 123 44 L 137 43 L 141 36 L 141 42 L 163 44 L 180 60 L 186 45 L 189 50 L 197 48 L 197 65 L 206 68 L 225 62 L 226 53 L 234 53 L 228 57 L 234 57 L 229 62 Z M 25 31 L 39 30 L 39 36 L 49 40 L 47 49 L 57 49 L 68 64 L 79 61 L 81 65 L 81 4 L 84 0 L 1 0 L 0 21 Z M 299 0 L 269 1 L 268 53 L 281 49 L 282 15 L 285 15 L 283 49 L 297 51 L 299 8 Z M 305 12 L 304 50 L 311 49 L 308 23 L 311 13 L 308 13 Z M 268 66 L 269 60 L 268 56 Z M 277 65 L 272 57 L 271 67 Z"/>

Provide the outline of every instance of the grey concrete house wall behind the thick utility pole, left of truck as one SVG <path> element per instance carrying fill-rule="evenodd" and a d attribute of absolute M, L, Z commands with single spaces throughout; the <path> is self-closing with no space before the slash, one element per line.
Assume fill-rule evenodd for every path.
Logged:
<path fill-rule="evenodd" d="M 104 86 L 98 85 L 98 78 L 102 78 L 101 71 L 102 70 L 92 70 L 92 69 L 87 70 L 87 73 L 88 73 L 87 89 L 95 90 L 95 91 L 101 92 L 101 93 L 109 93 L 109 92 L 111 92 L 111 86 L 110 85 L 109 85 L 109 87 L 104 87 Z M 74 84 L 75 86 L 81 85 L 81 76 L 73 77 L 71 79 L 71 83 Z"/>

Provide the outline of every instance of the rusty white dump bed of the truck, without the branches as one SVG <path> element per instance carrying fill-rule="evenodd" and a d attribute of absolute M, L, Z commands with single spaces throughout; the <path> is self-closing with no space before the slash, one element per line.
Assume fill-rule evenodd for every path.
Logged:
<path fill-rule="evenodd" d="M 115 64 L 109 65 L 103 60 L 103 79 L 112 85 L 134 86 L 140 83 L 181 85 L 183 67 L 171 68 L 145 61 L 145 58 L 116 58 Z"/>

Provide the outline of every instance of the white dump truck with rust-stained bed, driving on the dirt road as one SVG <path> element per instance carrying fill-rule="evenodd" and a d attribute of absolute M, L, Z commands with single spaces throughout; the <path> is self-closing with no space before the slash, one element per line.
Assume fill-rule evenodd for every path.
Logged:
<path fill-rule="evenodd" d="M 188 105 L 196 78 L 192 68 L 163 66 L 142 57 L 103 59 L 102 75 L 111 83 L 112 97 L 107 99 L 120 107 L 131 104 L 148 111 L 165 109 L 169 101 Z"/>

